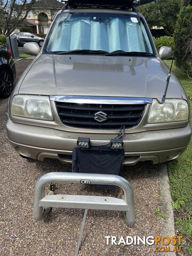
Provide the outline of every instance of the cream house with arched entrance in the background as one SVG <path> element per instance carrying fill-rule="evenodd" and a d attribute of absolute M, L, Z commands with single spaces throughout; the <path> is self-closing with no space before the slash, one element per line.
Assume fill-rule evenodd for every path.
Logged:
<path fill-rule="evenodd" d="M 26 22 L 33 27 L 33 33 L 47 34 L 54 14 L 62 9 L 63 5 L 57 0 L 36 1 L 26 18 Z"/>

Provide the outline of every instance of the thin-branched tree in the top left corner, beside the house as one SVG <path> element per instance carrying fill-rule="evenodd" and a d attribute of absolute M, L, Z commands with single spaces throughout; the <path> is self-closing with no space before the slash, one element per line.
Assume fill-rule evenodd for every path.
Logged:
<path fill-rule="evenodd" d="M 28 12 L 36 0 L 0 0 L 0 28 L 3 34 L 7 34 L 7 26 L 3 17 L 3 12 L 9 13 L 8 23 L 10 26 L 10 33 L 14 31 L 17 26 L 27 18 Z"/>

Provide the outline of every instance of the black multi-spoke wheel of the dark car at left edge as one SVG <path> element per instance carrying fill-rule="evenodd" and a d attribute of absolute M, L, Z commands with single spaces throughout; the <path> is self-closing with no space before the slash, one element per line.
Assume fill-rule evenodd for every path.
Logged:
<path fill-rule="evenodd" d="M 13 78 L 7 69 L 0 69 L 0 97 L 9 98 L 13 90 Z"/>

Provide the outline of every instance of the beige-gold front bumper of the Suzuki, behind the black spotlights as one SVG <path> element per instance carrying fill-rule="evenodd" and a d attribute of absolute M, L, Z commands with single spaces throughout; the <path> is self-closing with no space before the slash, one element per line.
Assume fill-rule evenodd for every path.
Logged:
<path fill-rule="evenodd" d="M 71 162 L 72 150 L 78 137 L 90 137 L 94 146 L 103 145 L 115 138 L 116 134 L 84 134 L 66 132 L 47 127 L 32 126 L 7 121 L 7 135 L 12 147 L 20 154 L 43 161 L 56 158 Z M 167 162 L 180 156 L 191 138 L 191 126 L 125 134 L 124 164 L 134 165 L 139 161 L 154 164 Z"/>

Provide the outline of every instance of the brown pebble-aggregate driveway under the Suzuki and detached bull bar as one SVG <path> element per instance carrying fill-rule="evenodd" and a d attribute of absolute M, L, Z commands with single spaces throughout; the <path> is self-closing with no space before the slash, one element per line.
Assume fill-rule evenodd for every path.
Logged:
<path fill-rule="evenodd" d="M 17 80 L 30 61 L 25 59 L 16 63 Z M 33 218 L 36 180 L 47 172 L 70 172 L 71 165 L 52 160 L 28 161 L 15 153 L 6 135 L 6 105 L 7 100 L 0 99 L 0 255 L 72 256 L 76 250 L 83 210 L 53 209 L 43 221 L 35 222 Z M 128 227 L 121 212 L 89 210 L 79 255 L 155 254 L 154 246 L 106 244 L 105 236 L 156 236 L 161 235 L 164 229 L 162 218 L 155 213 L 156 209 L 161 208 L 158 168 L 141 163 L 123 167 L 121 175 L 131 182 L 134 189 L 137 215 L 135 225 Z M 92 185 L 87 188 L 85 185 L 72 184 L 57 184 L 56 193 L 116 197 L 123 195 L 120 189 L 111 192 L 93 188 Z"/>

